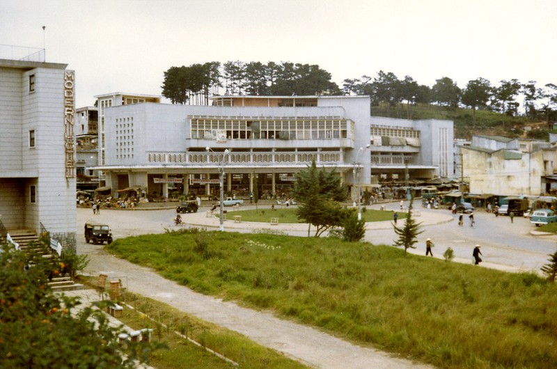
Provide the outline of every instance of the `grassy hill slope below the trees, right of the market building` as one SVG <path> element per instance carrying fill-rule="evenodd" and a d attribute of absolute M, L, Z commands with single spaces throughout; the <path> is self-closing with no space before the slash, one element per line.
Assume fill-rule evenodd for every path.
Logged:
<path fill-rule="evenodd" d="M 545 122 L 530 121 L 524 116 L 505 116 L 487 110 L 476 111 L 476 124 L 474 124 L 472 109 L 451 109 L 428 104 L 411 107 L 402 104 L 390 109 L 387 104 L 372 106 L 371 115 L 403 119 L 453 120 L 455 139 L 471 139 L 473 134 L 547 139 L 549 129 Z"/>

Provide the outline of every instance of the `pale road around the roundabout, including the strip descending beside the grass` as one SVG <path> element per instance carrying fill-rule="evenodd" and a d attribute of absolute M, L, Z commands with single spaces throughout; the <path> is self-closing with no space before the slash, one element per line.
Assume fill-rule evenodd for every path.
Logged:
<path fill-rule="evenodd" d="M 374 205 L 375 206 L 375 205 Z M 396 210 L 398 203 L 387 205 L 388 210 Z M 373 206 L 372 206 L 373 207 Z M 378 205 L 377 205 L 378 207 Z M 219 219 L 206 217 L 207 208 L 198 213 L 183 214 L 182 219 L 189 226 L 218 228 Z M 230 213 L 230 212 L 229 212 Z M 232 214 L 229 214 L 230 217 Z M 81 230 L 85 221 L 96 220 L 109 223 L 116 239 L 145 233 L 164 233 L 165 229 L 175 229 L 175 210 L 102 210 L 93 215 L 89 209 L 77 210 L 77 229 Z M 424 233 L 420 238 L 434 240 L 434 254 L 441 258 L 446 247 L 451 246 L 457 256 L 456 261 L 469 262 L 471 250 L 476 243 L 482 244 L 485 267 L 503 270 L 533 270 L 543 265 L 547 254 L 554 252 L 554 237 L 533 237 L 527 219 L 515 218 L 510 223 L 508 217 L 495 217 L 478 212 L 477 225 L 469 223 L 460 228 L 448 210 L 421 210 L 417 217 L 422 222 Z M 270 220 L 270 219 L 269 219 Z M 467 219 L 466 219 L 467 220 Z M 402 223 L 402 221 L 400 221 Z M 225 221 L 225 230 L 251 232 L 253 229 L 267 228 L 290 235 L 307 235 L 308 228 L 302 224 L 234 223 Z M 374 244 L 393 244 L 395 239 L 391 222 L 368 223 L 366 240 Z M 393 358 L 376 350 L 352 345 L 316 329 L 280 320 L 265 311 L 252 311 L 237 306 L 230 301 L 200 295 L 174 282 L 166 281 L 150 269 L 133 265 L 106 253 L 102 246 L 86 244 L 83 235 L 77 237 L 79 253 L 90 256 L 86 273 L 97 276 L 108 274 L 109 278 L 122 278 L 125 286 L 141 295 L 163 301 L 182 311 L 196 315 L 203 320 L 214 322 L 255 340 L 261 345 L 283 352 L 308 366 L 315 368 L 428 368 L 422 364 Z M 425 244 L 418 244 L 414 253 L 425 254 Z"/>

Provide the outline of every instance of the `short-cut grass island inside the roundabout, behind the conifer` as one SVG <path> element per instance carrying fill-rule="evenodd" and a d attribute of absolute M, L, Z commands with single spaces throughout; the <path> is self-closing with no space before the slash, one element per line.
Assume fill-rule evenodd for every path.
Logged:
<path fill-rule="evenodd" d="M 394 212 L 391 210 L 368 210 L 362 207 L 361 219 L 363 221 L 392 221 Z M 241 215 L 242 221 L 260 221 L 269 223 L 271 217 L 278 218 L 279 223 L 304 223 L 303 220 L 298 219 L 296 210 L 292 207 L 275 208 L 274 210 L 268 207 L 261 209 L 251 210 L 235 210 L 230 212 L 232 215 Z M 219 217 L 219 212 L 215 213 L 215 217 Z M 407 213 L 398 212 L 398 219 L 405 219 Z"/>

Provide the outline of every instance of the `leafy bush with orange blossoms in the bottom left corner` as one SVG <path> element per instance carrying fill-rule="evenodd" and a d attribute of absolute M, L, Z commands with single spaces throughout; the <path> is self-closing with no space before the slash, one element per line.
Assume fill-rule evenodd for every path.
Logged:
<path fill-rule="evenodd" d="M 111 327 L 102 310 L 76 309 L 77 297 L 54 294 L 47 282 L 56 268 L 40 259 L 30 268 L 13 246 L 0 251 L 1 368 L 136 368 L 136 359 L 148 359 L 153 345 L 122 347 L 123 329 Z"/>

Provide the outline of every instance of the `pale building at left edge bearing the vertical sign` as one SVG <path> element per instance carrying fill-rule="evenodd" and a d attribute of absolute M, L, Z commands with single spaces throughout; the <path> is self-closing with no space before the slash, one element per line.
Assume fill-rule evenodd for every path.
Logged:
<path fill-rule="evenodd" d="M 74 71 L 44 49 L 0 51 L 0 238 L 47 231 L 74 246 Z"/>

